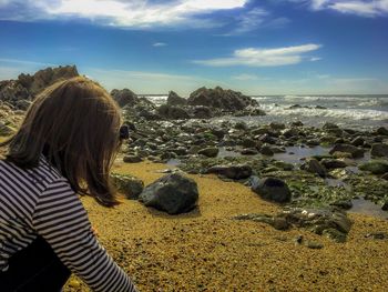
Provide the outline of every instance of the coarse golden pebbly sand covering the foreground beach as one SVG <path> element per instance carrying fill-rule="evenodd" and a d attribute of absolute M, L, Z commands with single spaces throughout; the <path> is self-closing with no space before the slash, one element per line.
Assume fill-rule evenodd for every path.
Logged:
<path fill-rule="evenodd" d="M 166 168 L 119 163 L 114 171 L 149 184 Z M 231 219 L 279 210 L 248 188 L 213 175 L 188 177 L 200 189 L 200 208 L 188 214 L 167 215 L 129 200 L 110 210 L 83 199 L 100 241 L 140 291 L 387 291 L 388 241 L 365 238 L 388 233 L 387 220 L 350 214 L 346 243 L 304 230 L 277 231 Z M 296 244 L 298 235 L 324 248 Z M 89 290 L 73 276 L 64 291 Z"/>

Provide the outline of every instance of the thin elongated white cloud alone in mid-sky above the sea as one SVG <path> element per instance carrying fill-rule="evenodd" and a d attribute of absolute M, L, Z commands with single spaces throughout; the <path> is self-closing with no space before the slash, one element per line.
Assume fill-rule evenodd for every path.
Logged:
<path fill-rule="evenodd" d="M 320 47 L 319 44 L 308 43 L 276 49 L 247 48 L 234 51 L 233 57 L 229 58 L 195 60 L 193 62 L 212 67 L 276 67 L 296 64 L 303 61 L 304 53 L 318 50 Z"/>

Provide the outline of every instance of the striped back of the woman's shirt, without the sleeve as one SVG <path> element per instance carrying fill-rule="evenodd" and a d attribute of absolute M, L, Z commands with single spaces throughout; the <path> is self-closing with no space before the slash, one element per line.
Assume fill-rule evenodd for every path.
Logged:
<path fill-rule="evenodd" d="M 0 271 L 7 270 L 11 255 L 37 238 L 32 221 L 40 194 L 60 178 L 43 158 L 30 170 L 0 160 Z"/>

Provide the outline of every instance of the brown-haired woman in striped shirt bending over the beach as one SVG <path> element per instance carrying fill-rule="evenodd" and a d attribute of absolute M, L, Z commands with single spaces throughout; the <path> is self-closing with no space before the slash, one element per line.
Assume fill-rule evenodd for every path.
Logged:
<path fill-rule="evenodd" d="M 93 291 L 136 291 L 93 234 L 78 194 L 119 202 L 110 169 L 125 137 L 115 102 L 82 77 L 29 108 L 0 160 L 0 291 L 61 291 L 73 272 Z"/>

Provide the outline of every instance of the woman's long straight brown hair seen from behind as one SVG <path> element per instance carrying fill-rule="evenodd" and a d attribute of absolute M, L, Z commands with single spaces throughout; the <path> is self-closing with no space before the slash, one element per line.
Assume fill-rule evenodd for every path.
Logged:
<path fill-rule="evenodd" d="M 54 83 L 30 105 L 18 132 L 0 143 L 7 161 L 34 168 L 40 157 L 65 177 L 79 194 L 100 204 L 118 204 L 110 169 L 120 147 L 121 114 L 98 83 L 76 77 Z"/>

